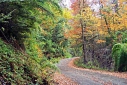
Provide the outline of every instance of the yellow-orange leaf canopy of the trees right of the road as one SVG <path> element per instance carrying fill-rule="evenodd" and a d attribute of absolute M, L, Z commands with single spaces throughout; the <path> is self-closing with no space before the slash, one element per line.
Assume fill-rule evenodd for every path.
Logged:
<path fill-rule="evenodd" d="M 100 35 L 100 37 L 109 36 L 109 33 L 115 33 L 118 30 L 127 29 L 127 4 L 124 3 L 126 0 L 118 0 L 118 12 L 116 13 L 114 10 L 116 4 L 109 4 L 108 1 L 109 0 L 100 0 L 101 4 L 103 5 L 103 8 L 100 9 L 98 15 L 101 14 L 101 17 L 94 14 L 94 12 L 91 10 L 89 6 L 82 8 L 81 15 L 78 15 L 77 17 L 78 19 L 74 19 L 72 21 L 72 26 L 74 29 L 67 32 L 65 36 L 71 38 L 79 38 L 80 35 L 81 37 L 80 33 L 82 31 L 77 30 L 77 28 L 80 28 L 80 26 L 78 26 L 79 24 L 81 24 L 80 19 L 82 19 L 83 24 L 86 25 L 84 31 L 84 35 L 86 37 L 89 35 L 93 36 L 96 34 Z M 97 41 L 97 43 L 104 42 L 104 40 Z"/>

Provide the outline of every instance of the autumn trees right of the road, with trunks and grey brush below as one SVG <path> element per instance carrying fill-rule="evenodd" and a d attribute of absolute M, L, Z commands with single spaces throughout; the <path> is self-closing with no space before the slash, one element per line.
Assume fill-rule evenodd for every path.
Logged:
<path fill-rule="evenodd" d="M 113 68 L 112 46 L 126 41 L 126 3 L 126 0 L 75 0 L 72 3 L 72 29 L 65 36 L 78 40 L 78 45 L 83 44 L 84 63 L 92 62 L 97 67 Z M 76 46 L 77 42 L 74 44 Z"/>

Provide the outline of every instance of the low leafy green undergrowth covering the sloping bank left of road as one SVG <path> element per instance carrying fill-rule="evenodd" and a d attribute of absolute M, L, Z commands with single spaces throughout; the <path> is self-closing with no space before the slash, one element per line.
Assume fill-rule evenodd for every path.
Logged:
<path fill-rule="evenodd" d="M 35 60 L 0 39 L 0 85 L 49 85 L 55 69 L 46 58 Z"/>

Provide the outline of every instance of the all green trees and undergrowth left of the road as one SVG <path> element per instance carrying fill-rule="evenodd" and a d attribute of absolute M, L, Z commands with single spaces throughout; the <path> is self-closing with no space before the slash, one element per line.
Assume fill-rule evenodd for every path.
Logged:
<path fill-rule="evenodd" d="M 7 84 L 47 85 L 56 70 L 55 58 L 70 56 L 63 30 L 66 20 L 56 1 L 0 1 L 0 30 L 5 35 L 0 33 L 0 38 L 13 45 L 0 40 L 0 76 Z"/>

